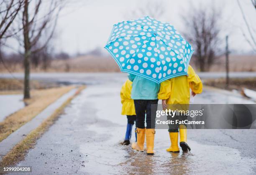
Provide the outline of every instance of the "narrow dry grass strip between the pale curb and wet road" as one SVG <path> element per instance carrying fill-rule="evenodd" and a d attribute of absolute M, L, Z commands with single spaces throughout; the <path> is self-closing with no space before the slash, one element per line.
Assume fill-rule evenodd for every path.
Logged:
<path fill-rule="evenodd" d="M 81 86 L 76 94 L 80 93 L 84 89 L 84 86 Z M 56 121 L 59 117 L 59 114 L 63 111 L 64 107 L 69 104 L 69 102 L 74 98 L 74 96 L 70 97 L 65 101 L 61 107 L 56 109 L 50 117 L 48 117 L 39 127 L 34 129 L 31 133 L 29 133 L 22 141 L 20 141 L 15 147 L 13 147 L 7 155 L 5 155 L 0 162 L 0 167 L 8 167 L 15 165 L 16 163 L 24 160 L 29 149 L 33 148 L 36 144 L 36 140 L 41 137 L 44 132 Z"/>

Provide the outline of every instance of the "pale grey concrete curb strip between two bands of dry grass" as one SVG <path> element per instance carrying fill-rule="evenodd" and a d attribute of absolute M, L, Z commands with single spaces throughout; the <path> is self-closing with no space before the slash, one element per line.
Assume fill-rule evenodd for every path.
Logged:
<path fill-rule="evenodd" d="M 74 96 L 77 92 L 77 88 L 70 90 L 68 93 L 62 95 L 59 99 L 50 104 L 40 114 L 34 117 L 30 122 L 24 124 L 22 127 L 17 129 L 15 132 L 10 134 L 6 139 L 0 142 L 0 161 L 2 158 L 21 140 L 23 140 L 27 134 L 36 129 L 45 119 L 54 113 L 56 109 L 67 101 L 70 97 Z"/>

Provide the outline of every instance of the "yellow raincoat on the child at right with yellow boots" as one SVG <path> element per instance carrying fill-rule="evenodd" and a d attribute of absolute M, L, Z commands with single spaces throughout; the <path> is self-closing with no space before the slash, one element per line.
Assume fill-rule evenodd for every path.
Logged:
<path fill-rule="evenodd" d="M 158 99 L 166 99 L 166 104 L 189 104 L 189 88 L 196 94 L 202 93 L 202 81 L 188 66 L 188 76 L 177 76 L 163 81 L 158 93 Z"/>

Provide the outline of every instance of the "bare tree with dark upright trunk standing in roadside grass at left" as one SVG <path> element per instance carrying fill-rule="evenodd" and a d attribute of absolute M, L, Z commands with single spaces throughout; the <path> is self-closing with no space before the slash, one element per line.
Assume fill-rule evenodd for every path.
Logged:
<path fill-rule="evenodd" d="M 17 37 L 18 41 L 23 41 L 23 43 L 20 44 L 24 48 L 24 99 L 30 98 L 29 76 L 31 55 L 41 51 L 51 40 L 59 12 L 63 7 L 63 1 L 64 0 L 44 1 L 44 3 L 48 4 L 43 5 L 42 0 L 24 0 L 21 18 L 23 37 L 22 39 Z M 41 8 L 44 8 L 44 11 L 46 11 L 45 14 L 40 13 Z M 48 37 L 44 38 L 44 43 L 40 43 L 40 47 L 35 47 L 43 33 L 48 33 Z"/>

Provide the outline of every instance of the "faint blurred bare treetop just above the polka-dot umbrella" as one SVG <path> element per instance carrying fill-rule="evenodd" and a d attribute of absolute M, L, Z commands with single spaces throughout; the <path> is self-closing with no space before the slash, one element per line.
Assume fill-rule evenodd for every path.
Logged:
<path fill-rule="evenodd" d="M 159 18 L 164 14 L 165 6 L 163 0 L 141 0 L 136 5 L 138 8 L 125 13 L 125 18 L 141 18 L 142 16 L 150 16 Z"/>

